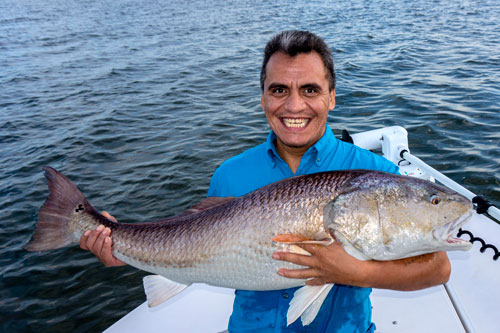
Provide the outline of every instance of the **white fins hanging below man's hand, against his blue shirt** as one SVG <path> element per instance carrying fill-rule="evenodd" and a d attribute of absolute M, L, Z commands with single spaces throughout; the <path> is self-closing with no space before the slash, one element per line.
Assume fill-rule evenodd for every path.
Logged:
<path fill-rule="evenodd" d="M 304 286 L 298 289 L 290 301 L 286 315 L 287 326 L 294 323 L 299 317 L 304 326 L 312 323 L 332 287 L 333 284 L 325 284 Z"/>

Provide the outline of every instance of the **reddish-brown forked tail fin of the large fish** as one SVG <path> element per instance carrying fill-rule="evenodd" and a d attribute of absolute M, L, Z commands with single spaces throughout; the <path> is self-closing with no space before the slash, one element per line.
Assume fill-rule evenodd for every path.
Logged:
<path fill-rule="evenodd" d="M 58 249 L 75 243 L 70 220 L 74 212 L 94 210 L 85 196 L 59 171 L 44 167 L 49 185 L 49 197 L 38 213 L 38 223 L 31 240 L 24 246 L 27 251 Z"/>

